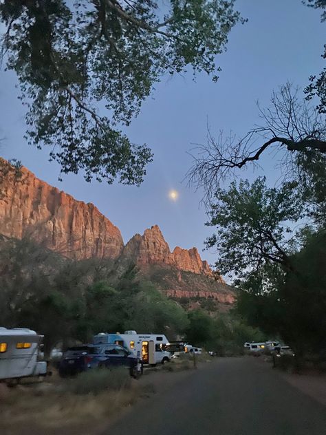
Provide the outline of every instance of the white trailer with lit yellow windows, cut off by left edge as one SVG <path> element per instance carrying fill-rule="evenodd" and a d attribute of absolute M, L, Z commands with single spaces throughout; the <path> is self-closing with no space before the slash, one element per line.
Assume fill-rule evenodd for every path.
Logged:
<path fill-rule="evenodd" d="M 42 340 L 28 328 L 0 327 L 0 380 L 45 375 L 47 363 L 38 361 Z"/>

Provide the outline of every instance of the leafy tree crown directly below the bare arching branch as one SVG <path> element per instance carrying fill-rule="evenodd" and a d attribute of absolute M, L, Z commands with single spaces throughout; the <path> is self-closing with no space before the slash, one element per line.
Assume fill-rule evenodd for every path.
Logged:
<path fill-rule="evenodd" d="M 274 266 L 292 270 L 290 254 L 298 240 L 290 223 L 298 222 L 302 213 L 296 183 L 268 189 L 265 178 L 251 185 L 248 180 L 239 186 L 232 182 L 228 189 L 217 189 L 210 204 L 206 225 L 214 226 L 215 233 L 206 246 L 219 249 L 216 266 L 221 273 L 240 279 L 267 268 L 270 276 Z"/>

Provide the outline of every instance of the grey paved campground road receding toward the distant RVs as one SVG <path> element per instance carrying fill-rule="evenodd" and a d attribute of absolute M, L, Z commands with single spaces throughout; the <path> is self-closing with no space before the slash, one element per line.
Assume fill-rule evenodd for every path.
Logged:
<path fill-rule="evenodd" d="M 326 407 L 268 364 L 221 359 L 158 390 L 103 435 L 111 434 L 325 435 Z"/>

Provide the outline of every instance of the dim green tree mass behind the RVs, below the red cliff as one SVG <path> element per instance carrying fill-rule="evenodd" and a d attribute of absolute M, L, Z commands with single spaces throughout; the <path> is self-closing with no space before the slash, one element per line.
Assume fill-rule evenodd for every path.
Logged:
<path fill-rule="evenodd" d="M 26 238 L 0 242 L 0 324 L 41 332 L 47 354 L 58 342 L 87 342 L 98 332 L 173 339 L 188 324 L 182 307 L 137 279 L 133 267 L 113 279 L 105 261 L 63 260 Z"/>

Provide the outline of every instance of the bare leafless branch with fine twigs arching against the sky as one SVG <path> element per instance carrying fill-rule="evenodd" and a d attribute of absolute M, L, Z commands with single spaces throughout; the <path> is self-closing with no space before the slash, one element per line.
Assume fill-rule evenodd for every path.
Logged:
<path fill-rule="evenodd" d="M 319 165 L 320 177 L 326 180 L 326 118 L 298 93 L 290 83 L 273 92 L 270 107 L 259 107 L 262 125 L 239 140 L 223 132 L 215 140 L 208 129 L 207 144 L 200 145 L 193 156 L 189 182 L 204 188 L 209 201 L 221 182 L 248 165 L 256 165 L 273 147 L 281 153 L 279 165 L 285 178 L 295 179 L 306 188 L 312 182 L 307 169 Z"/>

